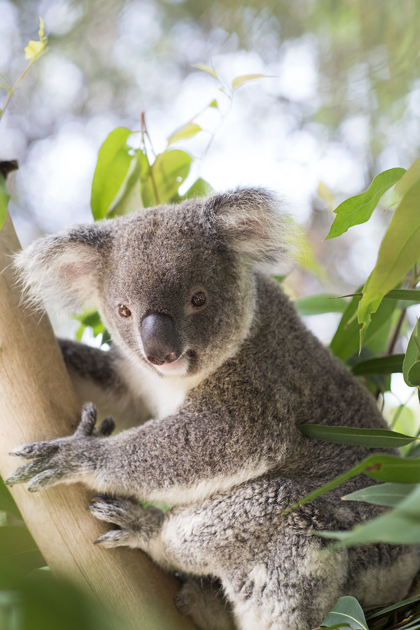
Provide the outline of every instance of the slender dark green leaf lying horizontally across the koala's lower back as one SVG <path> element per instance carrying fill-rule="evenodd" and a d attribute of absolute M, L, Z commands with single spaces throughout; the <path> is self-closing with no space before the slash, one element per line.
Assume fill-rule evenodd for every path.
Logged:
<path fill-rule="evenodd" d="M 370 448 L 394 448 L 411 444 L 416 437 L 389 429 L 357 429 L 354 427 L 329 427 L 327 425 L 300 425 L 299 430 L 307 437 L 334 444 L 355 444 Z"/>

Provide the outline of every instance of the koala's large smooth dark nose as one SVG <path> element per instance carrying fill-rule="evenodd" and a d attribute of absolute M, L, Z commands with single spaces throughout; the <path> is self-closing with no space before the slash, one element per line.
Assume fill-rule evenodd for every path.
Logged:
<path fill-rule="evenodd" d="M 152 313 L 140 325 L 140 336 L 147 360 L 154 365 L 172 363 L 181 354 L 174 320 L 163 313 Z"/>

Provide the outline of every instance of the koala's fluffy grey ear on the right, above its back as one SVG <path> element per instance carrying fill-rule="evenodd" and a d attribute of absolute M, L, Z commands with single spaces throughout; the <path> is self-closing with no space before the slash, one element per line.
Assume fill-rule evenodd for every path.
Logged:
<path fill-rule="evenodd" d="M 290 266 L 291 221 L 264 188 L 236 188 L 209 197 L 205 212 L 215 229 L 251 265 Z"/>

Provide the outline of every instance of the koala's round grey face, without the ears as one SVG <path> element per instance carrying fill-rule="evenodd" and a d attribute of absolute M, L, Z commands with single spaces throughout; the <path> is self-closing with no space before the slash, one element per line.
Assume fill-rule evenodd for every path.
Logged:
<path fill-rule="evenodd" d="M 100 311 L 125 353 L 162 375 L 190 375 L 236 352 L 254 312 L 253 275 L 195 207 L 114 225 Z"/>

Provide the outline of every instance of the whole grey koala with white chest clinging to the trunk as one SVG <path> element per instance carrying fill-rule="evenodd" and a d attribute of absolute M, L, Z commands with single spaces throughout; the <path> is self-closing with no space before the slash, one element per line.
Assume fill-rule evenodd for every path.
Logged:
<path fill-rule="evenodd" d="M 321 553 L 314 530 L 383 510 L 340 500 L 366 478 L 285 511 L 372 454 L 300 424 L 386 426 L 270 277 L 289 225 L 274 195 L 244 188 L 71 227 L 16 257 L 32 304 L 98 309 L 111 350 L 62 352 L 82 397 L 131 426 L 94 428 L 89 402 L 74 435 L 15 449 L 32 461 L 7 483 L 87 484 L 92 515 L 118 525 L 96 542 L 181 575 L 176 604 L 205 630 L 310 630 L 343 595 L 402 599 L 420 564 L 389 544 Z"/>

